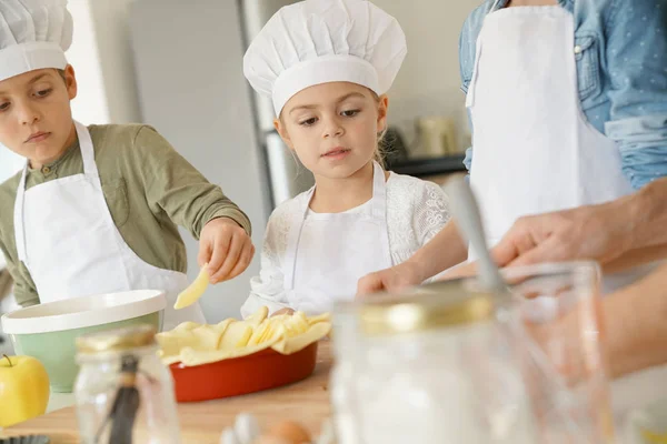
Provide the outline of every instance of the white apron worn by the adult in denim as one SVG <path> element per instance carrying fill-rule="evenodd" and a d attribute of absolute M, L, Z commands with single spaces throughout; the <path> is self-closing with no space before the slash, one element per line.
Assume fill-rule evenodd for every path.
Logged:
<path fill-rule="evenodd" d="M 490 246 L 520 216 L 634 191 L 616 143 L 580 109 L 574 36 L 573 16 L 560 6 L 500 9 L 485 19 L 466 107 L 474 128 L 470 183 Z M 606 276 L 605 290 L 648 269 Z"/>

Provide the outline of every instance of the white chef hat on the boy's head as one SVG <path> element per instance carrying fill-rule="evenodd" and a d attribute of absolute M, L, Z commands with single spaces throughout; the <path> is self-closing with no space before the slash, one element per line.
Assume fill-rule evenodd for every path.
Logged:
<path fill-rule="evenodd" d="M 72 28 L 67 0 L 0 0 L 0 81 L 37 69 L 64 69 Z"/>

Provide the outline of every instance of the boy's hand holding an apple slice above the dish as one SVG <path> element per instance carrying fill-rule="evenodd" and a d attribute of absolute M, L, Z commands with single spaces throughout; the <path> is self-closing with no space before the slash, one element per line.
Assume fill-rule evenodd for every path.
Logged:
<path fill-rule="evenodd" d="M 199 236 L 199 266 L 208 263 L 210 283 L 228 281 L 241 274 L 255 255 L 250 236 L 229 218 L 209 221 Z"/>

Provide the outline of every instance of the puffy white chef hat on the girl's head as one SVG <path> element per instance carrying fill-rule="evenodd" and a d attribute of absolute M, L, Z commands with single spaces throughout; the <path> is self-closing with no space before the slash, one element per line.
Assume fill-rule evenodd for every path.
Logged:
<path fill-rule="evenodd" d="M 297 92 L 347 81 L 387 92 L 407 53 L 398 21 L 366 0 L 306 0 L 281 8 L 243 57 L 243 73 L 279 115 Z"/>

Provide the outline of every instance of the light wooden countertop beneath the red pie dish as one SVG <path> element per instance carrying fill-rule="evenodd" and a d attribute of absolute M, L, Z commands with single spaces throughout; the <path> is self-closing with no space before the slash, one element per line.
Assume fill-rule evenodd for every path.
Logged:
<path fill-rule="evenodd" d="M 315 373 L 298 383 L 270 391 L 226 400 L 178 404 L 182 443 L 218 444 L 222 430 L 241 413 L 253 414 L 262 426 L 282 420 L 301 423 L 311 433 L 320 432 L 330 415 L 329 371 L 331 346 L 322 341 L 318 347 Z M 66 407 L 0 432 L 0 437 L 42 434 L 51 444 L 79 444 L 74 407 Z"/>

